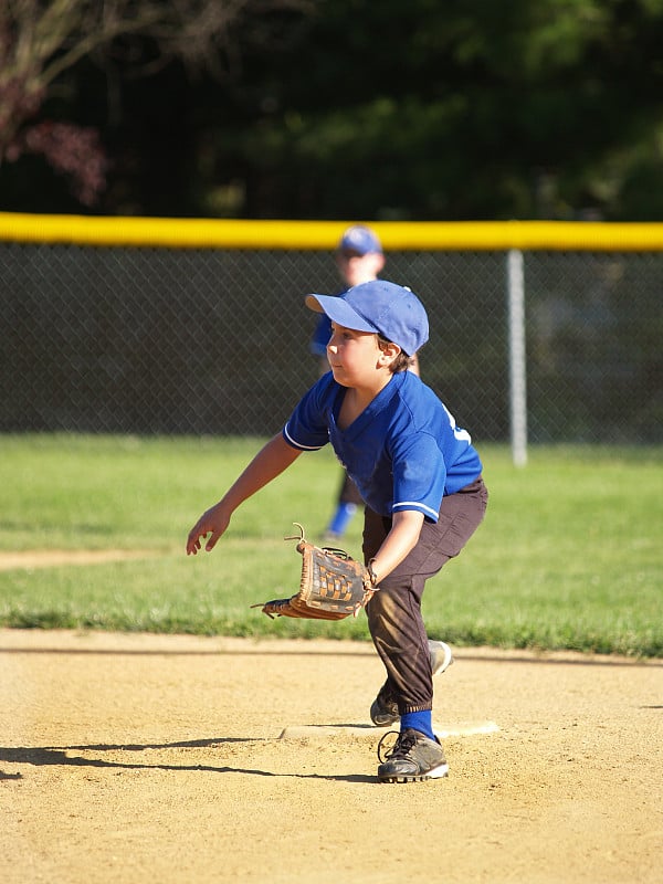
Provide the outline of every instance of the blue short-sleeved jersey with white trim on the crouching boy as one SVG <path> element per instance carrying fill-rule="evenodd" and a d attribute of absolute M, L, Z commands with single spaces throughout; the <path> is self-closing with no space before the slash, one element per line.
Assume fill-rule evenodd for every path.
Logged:
<path fill-rule="evenodd" d="M 337 424 L 346 388 L 329 371 L 301 399 L 283 438 L 302 451 L 332 443 L 371 509 L 404 509 L 438 520 L 442 497 L 482 471 L 470 434 L 456 427 L 435 393 L 411 371 L 389 383 L 346 430 Z"/>

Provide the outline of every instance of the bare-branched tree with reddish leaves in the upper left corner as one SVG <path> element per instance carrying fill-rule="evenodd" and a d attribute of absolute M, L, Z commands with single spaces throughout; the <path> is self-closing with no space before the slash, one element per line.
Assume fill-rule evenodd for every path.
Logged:
<path fill-rule="evenodd" d="M 0 166 L 43 155 L 72 179 L 82 203 L 105 186 L 107 162 L 98 131 L 75 123 L 39 120 L 62 74 L 84 57 L 103 64 L 113 50 L 146 74 L 173 57 L 219 75 L 232 62 L 232 28 L 249 14 L 305 9 L 308 0 L 3 0 L 0 6 Z M 150 51 L 138 40 L 148 41 Z M 124 42 L 123 42 L 124 41 Z"/>

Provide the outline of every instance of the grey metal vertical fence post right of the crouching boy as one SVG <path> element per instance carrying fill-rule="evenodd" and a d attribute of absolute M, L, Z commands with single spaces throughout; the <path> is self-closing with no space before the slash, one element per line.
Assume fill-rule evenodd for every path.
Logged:
<path fill-rule="evenodd" d="M 512 457 L 527 463 L 527 369 L 525 365 L 525 274 L 523 252 L 512 249 L 506 262 L 508 297 L 508 377 Z"/>

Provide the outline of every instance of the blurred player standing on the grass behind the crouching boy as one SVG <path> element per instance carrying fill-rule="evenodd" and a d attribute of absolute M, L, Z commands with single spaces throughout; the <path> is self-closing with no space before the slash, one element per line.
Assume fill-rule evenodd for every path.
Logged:
<path fill-rule="evenodd" d="M 345 231 L 336 249 L 335 259 L 340 278 L 345 283 L 345 288 L 338 292 L 339 295 L 354 285 L 377 280 L 386 263 L 380 240 L 375 231 L 364 224 L 354 224 Z M 320 360 L 320 375 L 329 371 L 327 341 L 330 337 L 332 322 L 326 314 L 320 314 L 311 340 L 311 351 Z M 417 355 L 413 357 L 410 370 L 419 375 Z M 344 471 L 336 509 L 325 532 L 325 543 L 338 543 L 360 505 L 362 506 L 364 502 L 357 486 Z"/>

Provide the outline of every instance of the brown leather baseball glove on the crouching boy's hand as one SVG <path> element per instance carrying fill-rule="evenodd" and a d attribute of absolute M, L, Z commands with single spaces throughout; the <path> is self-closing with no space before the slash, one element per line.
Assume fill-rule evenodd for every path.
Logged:
<path fill-rule="evenodd" d="M 357 617 L 376 590 L 370 570 L 343 549 L 309 544 L 304 538 L 302 525 L 298 522 L 294 524 L 299 528 L 301 536 L 284 539 L 299 540 L 299 591 L 290 599 L 274 599 L 251 607 L 262 608 L 263 613 L 272 619 L 302 617 L 309 620 L 343 620 L 349 614 Z"/>

